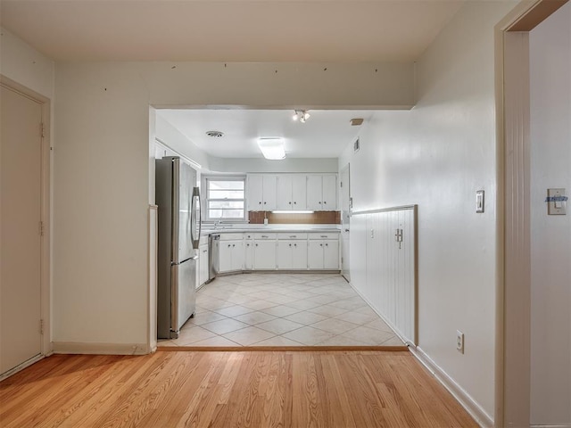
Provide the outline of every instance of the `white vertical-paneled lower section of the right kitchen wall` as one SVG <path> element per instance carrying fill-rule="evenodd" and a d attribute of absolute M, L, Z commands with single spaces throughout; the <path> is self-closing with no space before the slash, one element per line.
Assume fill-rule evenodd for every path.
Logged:
<path fill-rule="evenodd" d="M 417 206 L 355 212 L 352 286 L 406 342 L 417 344 Z M 402 240 L 397 240 L 397 231 Z"/>

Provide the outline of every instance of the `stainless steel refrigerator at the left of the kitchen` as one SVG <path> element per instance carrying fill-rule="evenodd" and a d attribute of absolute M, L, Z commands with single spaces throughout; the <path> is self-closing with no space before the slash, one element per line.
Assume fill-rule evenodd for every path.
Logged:
<path fill-rule="evenodd" d="M 200 196 L 196 171 L 178 157 L 157 159 L 158 212 L 157 335 L 176 339 L 194 316 L 196 260 L 200 240 Z"/>

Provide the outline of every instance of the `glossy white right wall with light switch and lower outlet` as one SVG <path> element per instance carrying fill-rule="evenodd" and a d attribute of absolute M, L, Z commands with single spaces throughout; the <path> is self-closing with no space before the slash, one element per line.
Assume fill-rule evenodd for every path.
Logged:
<path fill-rule="evenodd" d="M 419 347 L 488 423 L 496 269 L 493 26 L 514 5 L 464 4 L 418 61 L 414 109 L 377 112 L 360 133 L 360 151 L 350 144 L 339 161 L 341 168 L 351 162 L 353 210 L 418 203 Z M 485 191 L 483 214 L 476 214 L 477 190 Z M 457 329 L 465 334 L 464 355 L 456 350 Z"/>

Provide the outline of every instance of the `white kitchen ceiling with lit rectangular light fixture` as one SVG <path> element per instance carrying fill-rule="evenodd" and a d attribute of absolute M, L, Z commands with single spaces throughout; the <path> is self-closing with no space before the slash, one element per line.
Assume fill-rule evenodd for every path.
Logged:
<path fill-rule="evenodd" d="M 370 119 L 374 111 L 310 111 L 305 123 L 293 110 L 158 110 L 157 115 L 204 152 L 220 158 L 261 158 L 257 139 L 281 136 L 288 158 L 336 158 L 359 134 L 353 118 Z M 363 125 L 365 122 L 363 123 Z M 206 136 L 221 131 L 223 137 Z"/>

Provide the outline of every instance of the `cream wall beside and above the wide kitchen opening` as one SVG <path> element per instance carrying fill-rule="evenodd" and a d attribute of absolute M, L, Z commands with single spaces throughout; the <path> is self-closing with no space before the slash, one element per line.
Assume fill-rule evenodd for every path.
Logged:
<path fill-rule="evenodd" d="M 64 350 L 147 342 L 149 132 L 162 132 L 149 105 L 413 102 L 412 64 L 58 62 L 55 74 L 54 342 Z"/>

